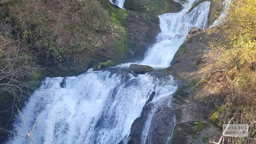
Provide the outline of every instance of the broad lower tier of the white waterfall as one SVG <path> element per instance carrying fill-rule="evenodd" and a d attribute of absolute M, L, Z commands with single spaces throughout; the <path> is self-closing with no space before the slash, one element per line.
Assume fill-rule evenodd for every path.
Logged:
<path fill-rule="evenodd" d="M 32 135 L 38 134 L 36 144 L 116 144 L 129 135 L 148 93 L 161 98 L 177 89 L 171 76 L 133 75 L 120 68 L 68 77 L 66 88 L 60 87 L 62 81 L 46 78 L 22 110 L 28 128 L 40 117 Z M 24 135 L 20 120 L 14 126 Z M 7 143 L 30 142 L 15 136 Z"/>

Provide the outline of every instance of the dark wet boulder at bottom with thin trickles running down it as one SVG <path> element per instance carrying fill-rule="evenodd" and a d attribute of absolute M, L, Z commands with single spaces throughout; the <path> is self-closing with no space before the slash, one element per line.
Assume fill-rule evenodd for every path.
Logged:
<path fill-rule="evenodd" d="M 143 133 L 145 132 L 143 129 L 152 111 L 155 112 L 148 126 L 149 131 L 146 134 L 147 137 L 143 138 Z M 160 107 L 152 103 L 145 105 L 141 116 L 138 117 L 131 126 L 131 139 L 128 144 L 139 144 L 142 143 L 142 141 L 151 144 L 171 143 L 172 130 L 174 129 L 174 117 L 174 110 L 170 107 Z"/>

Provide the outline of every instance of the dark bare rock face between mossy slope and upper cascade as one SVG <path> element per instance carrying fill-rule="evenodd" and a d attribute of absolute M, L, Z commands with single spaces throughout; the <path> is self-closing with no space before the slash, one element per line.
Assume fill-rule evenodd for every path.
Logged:
<path fill-rule="evenodd" d="M 143 58 L 147 46 L 153 44 L 160 33 L 158 16 L 129 11 L 124 26 L 127 28 L 129 39 L 128 56 L 124 62 Z"/>

